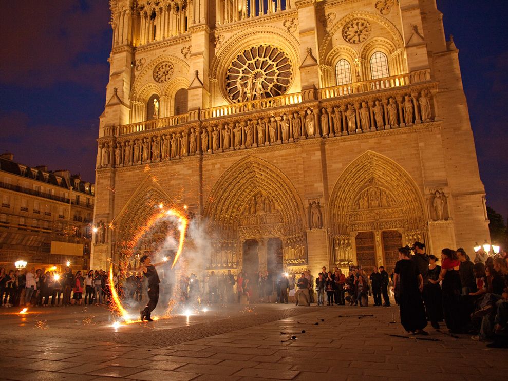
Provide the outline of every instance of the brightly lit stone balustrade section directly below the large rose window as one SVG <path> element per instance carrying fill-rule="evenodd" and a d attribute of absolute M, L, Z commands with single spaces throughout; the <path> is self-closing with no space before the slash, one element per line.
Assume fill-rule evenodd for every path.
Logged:
<path fill-rule="evenodd" d="M 278 97 L 258 99 L 250 102 L 234 103 L 219 107 L 207 108 L 201 110 L 200 119 L 211 119 L 224 117 L 228 115 L 236 115 L 243 112 L 263 110 L 267 108 L 288 106 L 302 102 L 302 93 L 285 94 Z"/>

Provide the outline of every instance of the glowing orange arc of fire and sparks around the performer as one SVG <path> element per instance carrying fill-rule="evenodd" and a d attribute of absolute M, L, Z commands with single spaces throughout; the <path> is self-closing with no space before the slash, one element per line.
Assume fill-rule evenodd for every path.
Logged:
<path fill-rule="evenodd" d="M 163 207 L 162 204 L 159 207 L 162 209 L 162 207 Z M 178 211 L 176 209 L 168 209 L 167 211 L 161 211 L 160 213 L 157 213 L 155 216 L 150 218 L 150 220 L 148 221 L 146 226 L 144 226 L 142 233 L 138 234 L 138 236 L 136 237 L 136 240 L 139 240 L 139 238 L 141 238 L 141 236 L 146 231 L 148 231 L 149 228 L 155 224 L 155 222 L 157 222 L 160 218 L 165 217 L 165 216 L 176 217 L 176 218 L 178 218 L 178 222 L 180 223 L 180 226 L 178 227 L 178 230 L 180 230 L 180 239 L 178 242 L 178 250 L 175 254 L 175 259 L 173 259 L 173 264 L 171 265 L 171 268 L 173 269 L 176 262 L 178 261 L 178 258 L 180 257 L 180 254 L 183 251 L 183 244 L 185 243 L 185 233 L 187 231 L 187 225 L 189 225 L 189 219 L 187 219 L 187 217 L 183 213 L 181 213 L 180 211 Z M 116 307 L 117 311 L 120 313 L 120 315 L 122 316 L 123 320 L 126 323 L 134 323 L 134 322 L 138 321 L 138 320 L 132 320 L 130 318 L 129 313 L 122 306 L 122 302 L 120 300 L 120 297 L 118 296 L 118 292 L 116 290 L 115 283 L 113 282 L 113 264 L 112 263 L 111 263 L 111 266 L 109 267 L 109 285 L 110 285 L 110 289 L 111 289 L 111 296 L 113 297 L 113 300 L 115 301 L 115 307 Z"/>

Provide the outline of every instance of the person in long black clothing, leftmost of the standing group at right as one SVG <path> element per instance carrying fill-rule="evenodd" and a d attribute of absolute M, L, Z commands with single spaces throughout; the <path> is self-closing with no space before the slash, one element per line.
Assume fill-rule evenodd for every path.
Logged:
<path fill-rule="evenodd" d="M 427 326 L 427 315 L 421 292 L 423 277 L 415 261 L 411 260 L 408 247 L 399 249 L 399 261 L 395 264 L 393 282 L 400 278 L 400 316 L 404 329 L 413 334 L 428 335 L 423 329 Z"/>

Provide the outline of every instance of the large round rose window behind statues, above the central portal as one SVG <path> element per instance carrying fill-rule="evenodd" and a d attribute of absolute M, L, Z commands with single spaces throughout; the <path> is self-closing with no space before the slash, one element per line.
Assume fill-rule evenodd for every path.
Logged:
<path fill-rule="evenodd" d="M 244 50 L 231 63 L 225 79 L 233 102 L 276 97 L 289 87 L 293 68 L 284 51 L 260 45 Z"/>

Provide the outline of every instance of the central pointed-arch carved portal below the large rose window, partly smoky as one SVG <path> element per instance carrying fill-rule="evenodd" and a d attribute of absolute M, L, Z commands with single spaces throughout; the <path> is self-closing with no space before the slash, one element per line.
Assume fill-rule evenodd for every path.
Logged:
<path fill-rule="evenodd" d="M 307 263 L 302 201 L 289 178 L 265 160 L 248 156 L 227 169 L 204 214 L 214 236 L 210 268 L 243 269 L 253 255 L 250 271 L 270 270 L 273 251 L 279 252 L 280 270 L 283 263 Z"/>

